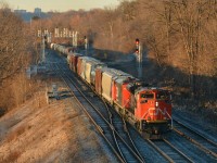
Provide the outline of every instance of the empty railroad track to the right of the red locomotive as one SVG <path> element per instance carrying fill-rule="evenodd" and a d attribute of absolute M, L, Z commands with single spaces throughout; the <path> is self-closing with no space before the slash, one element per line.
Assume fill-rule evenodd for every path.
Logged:
<path fill-rule="evenodd" d="M 217 143 L 174 118 L 174 130 L 217 160 Z"/>

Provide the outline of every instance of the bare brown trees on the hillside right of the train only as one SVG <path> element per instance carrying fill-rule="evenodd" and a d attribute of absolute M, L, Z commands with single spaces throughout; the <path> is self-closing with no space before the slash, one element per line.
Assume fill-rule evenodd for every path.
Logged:
<path fill-rule="evenodd" d="M 216 0 L 122 0 L 117 8 L 53 13 L 41 22 L 51 30 L 78 30 L 99 49 L 130 53 L 139 38 L 159 70 L 177 70 L 162 79 L 169 77 L 190 97 L 217 96 Z"/>

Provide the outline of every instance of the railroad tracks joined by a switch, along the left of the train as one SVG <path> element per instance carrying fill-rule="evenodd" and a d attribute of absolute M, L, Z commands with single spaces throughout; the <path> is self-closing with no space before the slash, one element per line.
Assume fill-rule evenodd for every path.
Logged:
<path fill-rule="evenodd" d="M 92 93 L 90 88 L 84 82 L 79 80 L 77 76 L 75 78 L 75 74 L 73 75 L 73 73 L 66 67 L 65 63 L 62 65 L 55 63 L 52 67 L 55 67 L 55 71 L 61 74 L 63 80 L 66 85 L 68 85 L 71 90 L 73 90 L 74 97 L 77 98 L 77 101 L 80 103 L 82 110 L 92 121 L 93 125 L 110 145 L 111 149 L 120 162 L 144 162 L 146 153 L 152 154 L 153 152 L 158 154 L 154 151 L 152 146 L 140 137 L 138 131 L 135 129 L 128 130 L 126 123 L 124 121 L 122 122 L 122 118 L 115 115 L 114 109 L 108 106 L 105 109 L 105 105 L 100 102 L 101 100 L 98 99 L 98 96 Z M 79 88 L 77 85 L 79 85 Z M 91 98 L 94 101 L 94 105 L 90 104 L 92 101 Z M 100 116 L 100 118 L 98 116 Z M 131 135 L 133 138 L 131 138 Z M 159 158 L 162 158 L 161 154 L 158 154 Z M 162 158 L 162 161 L 163 159 L 164 158 Z M 168 160 L 168 158 L 166 158 L 166 160 Z"/>

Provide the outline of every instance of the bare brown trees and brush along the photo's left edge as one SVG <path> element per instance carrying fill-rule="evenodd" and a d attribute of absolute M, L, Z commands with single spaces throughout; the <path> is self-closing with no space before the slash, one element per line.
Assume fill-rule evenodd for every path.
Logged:
<path fill-rule="evenodd" d="M 26 67 L 31 63 L 29 25 L 0 2 L 0 116 L 25 102 L 31 89 Z"/>

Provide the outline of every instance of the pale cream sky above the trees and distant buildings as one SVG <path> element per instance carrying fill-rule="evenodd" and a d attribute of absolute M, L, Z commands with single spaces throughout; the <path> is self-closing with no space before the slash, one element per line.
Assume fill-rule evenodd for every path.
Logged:
<path fill-rule="evenodd" d="M 4 0 L 13 10 L 27 10 L 34 12 L 35 8 L 40 8 L 43 12 L 68 10 L 90 10 L 104 7 L 116 7 L 118 0 Z"/>

